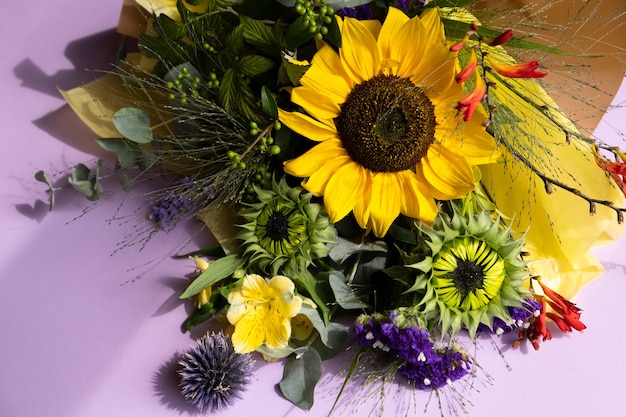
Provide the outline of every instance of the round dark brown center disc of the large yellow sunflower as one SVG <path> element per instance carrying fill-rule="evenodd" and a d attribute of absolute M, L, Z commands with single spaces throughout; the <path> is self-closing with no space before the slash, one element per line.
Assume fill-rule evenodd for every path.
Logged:
<path fill-rule="evenodd" d="M 377 75 L 356 85 L 336 121 L 350 158 L 373 172 L 414 168 L 435 142 L 435 108 L 408 78 Z"/>

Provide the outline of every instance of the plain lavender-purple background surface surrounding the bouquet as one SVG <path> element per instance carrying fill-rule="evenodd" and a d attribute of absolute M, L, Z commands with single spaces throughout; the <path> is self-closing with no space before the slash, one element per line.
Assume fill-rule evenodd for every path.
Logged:
<path fill-rule="evenodd" d="M 33 179 L 43 169 L 63 183 L 63 170 L 101 155 L 90 133 L 64 105 L 59 88 L 98 76 L 115 57 L 114 32 L 121 1 L 33 0 L 12 2 L 0 17 L 2 98 L 0 218 L 0 417 L 188 416 L 176 388 L 173 360 L 193 343 L 180 325 L 187 306 L 177 294 L 185 287 L 187 260 L 172 252 L 206 242 L 189 242 L 196 223 L 159 234 L 143 249 L 117 251 L 142 220 L 141 185 L 90 203 L 61 191 L 55 211 L 47 212 L 45 186 Z M 614 104 L 626 100 L 622 88 Z M 624 109 L 607 115 L 600 129 L 618 143 L 626 131 Z M 109 159 L 109 165 L 110 159 Z M 115 190 L 114 182 L 108 190 Z M 83 210 L 87 211 L 82 215 Z M 117 217 L 117 219 L 112 219 Z M 477 361 L 491 377 L 457 385 L 472 416 L 621 415 L 624 405 L 626 332 L 626 241 L 597 251 L 607 268 L 577 302 L 588 329 L 556 337 L 540 351 L 503 348 L 506 363 L 489 341 L 475 348 Z M 159 262 L 162 259 L 161 262 Z M 140 273 L 143 278 L 127 283 Z M 125 284 L 126 283 L 126 284 Z M 329 373 L 341 364 L 331 364 Z M 279 364 L 257 362 L 258 380 L 243 401 L 223 416 L 326 415 L 337 377 L 318 389 L 305 413 L 282 400 L 275 384 Z M 477 392 L 479 390 L 480 392 Z M 385 415 L 401 414 L 394 404 L 413 404 L 421 415 L 428 393 L 395 397 L 390 387 Z M 364 399 L 351 390 L 337 415 L 350 415 Z M 446 395 L 451 395 L 450 392 Z M 445 398 L 443 399 L 445 403 Z M 271 404 L 271 406 L 269 406 Z M 359 414 L 369 406 L 358 408 Z M 376 413 L 375 413 L 376 414 Z M 449 414 L 449 413 L 446 413 Z M 438 416 L 437 398 L 427 415 Z"/>

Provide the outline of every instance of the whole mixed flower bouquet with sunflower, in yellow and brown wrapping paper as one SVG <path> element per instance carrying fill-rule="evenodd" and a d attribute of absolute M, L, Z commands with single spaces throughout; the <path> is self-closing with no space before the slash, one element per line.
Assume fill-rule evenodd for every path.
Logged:
<path fill-rule="evenodd" d="M 217 242 L 181 254 L 195 267 L 184 328 L 207 329 L 180 356 L 192 404 L 235 404 L 253 355 L 283 364 L 281 395 L 310 409 L 324 361 L 346 351 L 337 399 L 381 381 L 439 393 L 477 375 L 482 338 L 539 349 L 585 329 L 573 299 L 602 273 L 590 248 L 621 233 L 626 154 L 563 110 L 571 83 L 598 89 L 567 64 L 590 58 L 525 34 L 532 13 L 125 2 L 133 41 L 64 97 L 122 189 L 166 179 L 145 196 L 150 233 L 195 218 Z M 571 73 L 551 82 L 557 62 Z M 78 164 L 69 184 L 95 201 L 104 169 Z"/>

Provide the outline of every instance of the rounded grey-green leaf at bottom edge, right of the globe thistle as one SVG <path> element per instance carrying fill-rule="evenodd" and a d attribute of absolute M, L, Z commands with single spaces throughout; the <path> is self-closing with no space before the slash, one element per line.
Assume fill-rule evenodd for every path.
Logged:
<path fill-rule="evenodd" d="M 315 349 L 290 358 L 278 386 L 285 398 L 303 410 L 313 407 L 315 385 L 322 376 L 322 359 Z"/>

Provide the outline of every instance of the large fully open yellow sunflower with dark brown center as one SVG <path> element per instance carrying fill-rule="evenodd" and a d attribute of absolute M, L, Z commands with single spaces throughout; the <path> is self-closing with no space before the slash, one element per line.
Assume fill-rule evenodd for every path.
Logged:
<path fill-rule="evenodd" d="M 331 221 L 351 211 L 382 237 L 399 214 L 432 223 L 435 199 L 474 188 L 472 165 L 494 161 L 484 112 L 460 121 L 464 96 L 456 55 L 437 10 L 410 19 L 390 8 L 384 24 L 339 20 L 339 53 L 324 44 L 292 90 L 308 115 L 279 111 L 293 131 L 319 142 L 285 171 L 305 178 Z"/>

